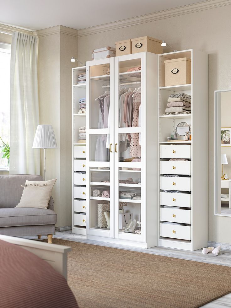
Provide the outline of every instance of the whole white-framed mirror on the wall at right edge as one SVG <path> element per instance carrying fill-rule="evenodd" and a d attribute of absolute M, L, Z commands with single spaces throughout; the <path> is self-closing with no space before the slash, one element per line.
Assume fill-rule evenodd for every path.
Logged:
<path fill-rule="evenodd" d="M 231 90 L 215 91 L 215 215 L 231 216 Z"/>

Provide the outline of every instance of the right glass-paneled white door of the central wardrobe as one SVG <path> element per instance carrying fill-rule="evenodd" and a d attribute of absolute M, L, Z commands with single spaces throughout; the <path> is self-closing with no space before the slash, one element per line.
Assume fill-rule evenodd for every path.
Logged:
<path fill-rule="evenodd" d="M 142 240 L 144 217 L 142 56 L 115 59 L 115 237 L 137 241 Z"/>

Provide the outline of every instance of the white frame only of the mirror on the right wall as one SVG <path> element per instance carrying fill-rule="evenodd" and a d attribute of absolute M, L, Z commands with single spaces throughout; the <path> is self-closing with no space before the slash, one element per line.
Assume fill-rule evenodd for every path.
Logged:
<path fill-rule="evenodd" d="M 228 216 L 221 213 L 221 146 L 218 146 L 221 138 L 221 93 L 231 90 L 214 91 L 214 215 Z M 218 143 L 219 141 L 219 143 Z"/>

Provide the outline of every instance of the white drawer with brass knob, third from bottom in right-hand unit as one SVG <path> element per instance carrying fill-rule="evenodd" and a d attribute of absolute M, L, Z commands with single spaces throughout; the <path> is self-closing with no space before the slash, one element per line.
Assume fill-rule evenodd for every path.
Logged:
<path fill-rule="evenodd" d="M 180 206 L 191 208 L 191 194 L 176 192 L 160 192 L 160 205 Z"/>

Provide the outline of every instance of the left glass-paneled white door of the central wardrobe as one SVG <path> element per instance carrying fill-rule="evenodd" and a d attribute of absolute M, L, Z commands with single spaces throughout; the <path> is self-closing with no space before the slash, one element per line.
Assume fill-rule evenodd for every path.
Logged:
<path fill-rule="evenodd" d="M 86 211 L 88 235 L 113 237 L 114 59 L 88 62 L 86 84 Z"/>

